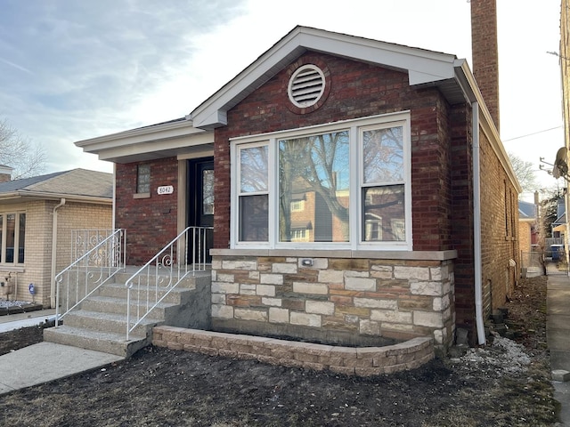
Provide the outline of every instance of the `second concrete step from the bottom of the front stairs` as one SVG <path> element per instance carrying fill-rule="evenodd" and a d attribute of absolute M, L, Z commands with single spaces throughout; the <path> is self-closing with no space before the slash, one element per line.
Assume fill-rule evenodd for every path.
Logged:
<path fill-rule="evenodd" d="M 142 312 L 144 314 L 144 312 Z M 142 316 L 141 314 L 141 316 Z M 133 313 L 136 316 L 136 313 Z M 134 321 L 131 318 L 131 322 Z M 92 331 L 104 331 L 114 334 L 126 334 L 126 314 L 102 313 L 97 311 L 75 310 L 70 312 L 63 320 L 63 325 L 80 327 Z M 131 334 L 147 336 L 151 334 L 152 326 L 164 324 L 163 318 L 144 318 Z"/>

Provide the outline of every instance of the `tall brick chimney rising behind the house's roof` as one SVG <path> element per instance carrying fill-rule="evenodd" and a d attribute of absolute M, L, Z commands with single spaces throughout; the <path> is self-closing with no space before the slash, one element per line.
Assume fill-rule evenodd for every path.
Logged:
<path fill-rule="evenodd" d="M 473 75 L 499 130 L 499 49 L 496 0 L 471 0 Z"/>

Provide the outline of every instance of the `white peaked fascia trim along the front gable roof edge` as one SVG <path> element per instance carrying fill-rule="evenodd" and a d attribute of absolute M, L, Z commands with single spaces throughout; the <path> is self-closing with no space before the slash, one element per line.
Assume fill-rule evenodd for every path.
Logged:
<path fill-rule="evenodd" d="M 191 118 L 195 127 L 203 129 L 227 125 L 227 109 L 235 105 L 234 100 L 245 98 L 307 50 L 407 71 L 411 85 L 454 76 L 456 58 L 448 53 L 297 27 L 194 109 L 188 118 Z"/>

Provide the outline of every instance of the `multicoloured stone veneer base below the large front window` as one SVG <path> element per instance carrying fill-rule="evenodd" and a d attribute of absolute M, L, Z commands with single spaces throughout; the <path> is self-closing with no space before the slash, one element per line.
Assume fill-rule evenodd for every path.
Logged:
<path fill-rule="evenodd" d="M 428 337 L 443 352 L 452 345 L 454 251 L 388 259 L 271 252 L 212 251 L 213 330 L 367 347 Z"/>

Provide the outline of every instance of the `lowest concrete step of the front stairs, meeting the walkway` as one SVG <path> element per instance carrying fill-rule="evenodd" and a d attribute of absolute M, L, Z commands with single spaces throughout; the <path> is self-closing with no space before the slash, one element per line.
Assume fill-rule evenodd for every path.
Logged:
<path fill-rule="evenodd" d="M 124 358 L 131 357 L 136 351 L 151 343 L 150 338 L 142 336 L 130 336 L 129 341 L 126 341 L 125 334 L 113 334 L 67 325 L 44 329 L 44 341 L 102 351 Z"/>

